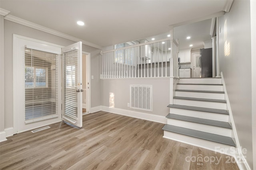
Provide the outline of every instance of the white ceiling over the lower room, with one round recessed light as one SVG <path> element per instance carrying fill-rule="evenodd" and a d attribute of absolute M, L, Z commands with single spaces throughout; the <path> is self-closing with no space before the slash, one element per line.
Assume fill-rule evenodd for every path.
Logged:
<path fill-rule="evenodd" d="M 10 15 L 106 47 L 168 33 L 222 12 L 230 0 L 0 0 Z M 79 26 L 76 21 L 84 21 Z M 175 29 L 174 29 L 175 30 Z M 177 31 L 189 31 L 180 29 Z M 209 28 L 207 28 L 209 33 Z M 202 32 L 202 30 L 199 30 Z"/>

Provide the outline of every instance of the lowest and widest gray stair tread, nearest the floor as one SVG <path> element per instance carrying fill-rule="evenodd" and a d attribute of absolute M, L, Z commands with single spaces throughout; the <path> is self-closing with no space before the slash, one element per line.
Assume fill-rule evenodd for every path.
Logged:
<path fill-rule="evenodd" d="M 184 127 L 178 127 L 178 126 L 167 125 L 167 124 L 164 125 L 162 130 L 236 147 L 236 144 L 234 143 L 231 137 L 216 135 L 216 134 L 202 132 L 202 131 L 196 131 L 196 130 L 187 129 Z"/>

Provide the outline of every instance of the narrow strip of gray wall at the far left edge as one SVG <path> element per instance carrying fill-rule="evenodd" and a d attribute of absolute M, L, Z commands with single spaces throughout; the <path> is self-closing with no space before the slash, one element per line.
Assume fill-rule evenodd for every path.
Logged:
<path fill-rule="evenodd" d="M 0 132 L 4 131 L 4 16 L 0 15 Z"/>

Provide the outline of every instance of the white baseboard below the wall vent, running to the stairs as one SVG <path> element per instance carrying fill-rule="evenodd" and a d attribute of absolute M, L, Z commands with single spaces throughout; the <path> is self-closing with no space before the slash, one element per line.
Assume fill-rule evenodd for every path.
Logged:
<path fill-rule="evenodd" d="M 107 111 L 110 113 L 115 113 L 118 115 L 124 115 L 124 116 L 134 117 L 138 119 L 154 121 L 158 123 L 164 123 L 164 124 L 167 123 L 167 118 L 165 116 L 160 116 L 160 115 L 153 115 L 149 113 L 142 113 L 142 112 L 126 110 L 126 109 L 110 108 L 107 106 L 101 106 L 101 110 Z"/>

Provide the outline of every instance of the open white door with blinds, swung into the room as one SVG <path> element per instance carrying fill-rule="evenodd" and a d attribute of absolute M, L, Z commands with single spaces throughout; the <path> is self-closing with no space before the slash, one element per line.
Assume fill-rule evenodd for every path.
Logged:
<path fill-rule="evenodd" d="M 62 120 L 82 127 L 82 42 L 62 48 Z"/>

